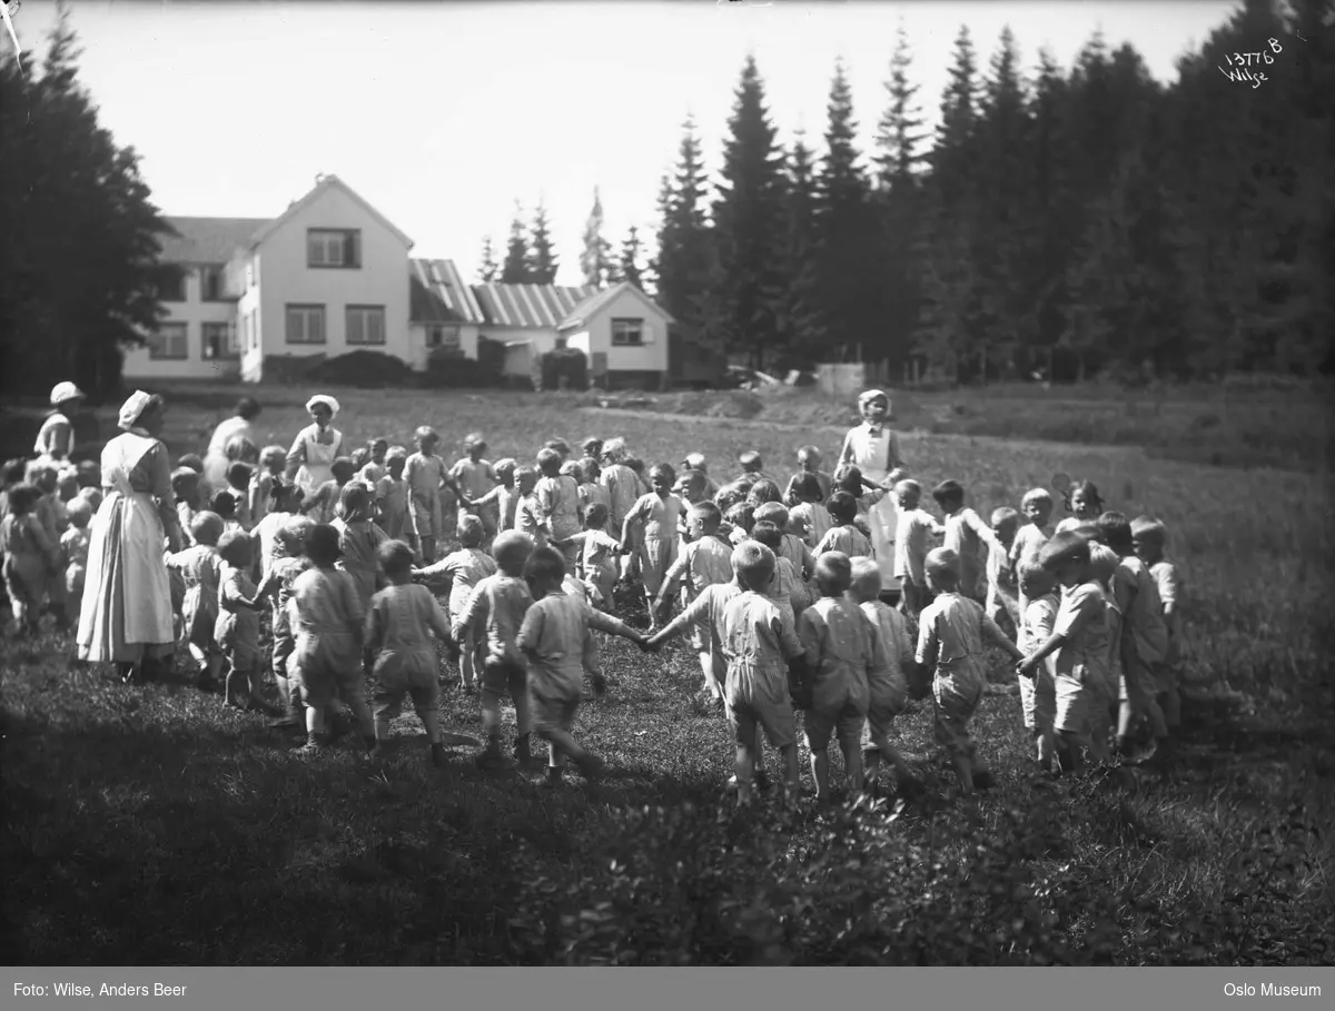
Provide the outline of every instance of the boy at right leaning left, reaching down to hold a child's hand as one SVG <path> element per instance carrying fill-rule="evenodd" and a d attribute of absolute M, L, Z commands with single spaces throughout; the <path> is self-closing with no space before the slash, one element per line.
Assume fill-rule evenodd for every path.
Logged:
<path fill-rule="evenodd" d="M 1089 736 L 1091 712 L 1107 706 L 1108 616 L 1103 588 L 1093 578 L 1089 542 L 1063 531 L 1043 546 L 1039 564 L 1063 587 L 1052 634 L 1020 662 L 1021 678 L 1037 675 L 1039 664 L 1056 654 L 1052 666 L 1056 696 L 1052 726 L 1056 732 L 1057 762 L 1063 772 L 1080 768 L 1081 746 L 1099 752 Z M 1105 718 L 1100 720 L 1105 722 Z"/>

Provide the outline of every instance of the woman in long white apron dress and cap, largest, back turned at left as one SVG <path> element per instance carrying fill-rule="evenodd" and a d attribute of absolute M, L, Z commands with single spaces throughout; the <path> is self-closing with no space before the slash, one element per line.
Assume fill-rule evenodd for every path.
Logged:
<path fill-rule="evenodd" d="M 103 499 L 92 520 L 79 659 L 115 663 L 127 680 L 151 676 L 175 652 L 164 544 L 180 551 L 164 404 L 139 389 L 121 405 L 121 433 L 101 451 Z"/>

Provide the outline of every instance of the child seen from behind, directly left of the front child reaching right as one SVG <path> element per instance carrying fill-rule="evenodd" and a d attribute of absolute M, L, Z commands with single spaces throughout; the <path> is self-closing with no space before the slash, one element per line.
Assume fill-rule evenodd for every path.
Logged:
<path fill-rule="evenodd" d="M 515 638 L 523 623 L 533 595 L 523 580 L 525 566 L 533 555 L 533 538 L 519 531 L 503 531 L 491 546 L 498 571 L 473 588 L 462 614 L 453 615 L 454 640 L 467 642 L 469 630 L 485 639 L 486 658 L 482 662 L 482 730 L 487 743 L 478 755 L 478 766 L 494 768 L 505 764 L 501 755 L 501 694 L 509 692 L 514 700 L 517 739 L 515 759 L 526 763 L 531 758 L 527 670 Z"/>

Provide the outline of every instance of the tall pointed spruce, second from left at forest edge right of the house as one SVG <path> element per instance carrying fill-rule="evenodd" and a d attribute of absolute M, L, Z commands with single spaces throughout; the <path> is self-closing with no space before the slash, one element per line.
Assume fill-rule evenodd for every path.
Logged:
<path fill-rule="evenodd" d="M 782 152 L 765 107 L 765 84 L 746 57 L 737 85 L 714 201 L 720 328 L 725 344 L 764 369 L 778 345 L 782 275 L 776 256 L 782 221 Z"/>

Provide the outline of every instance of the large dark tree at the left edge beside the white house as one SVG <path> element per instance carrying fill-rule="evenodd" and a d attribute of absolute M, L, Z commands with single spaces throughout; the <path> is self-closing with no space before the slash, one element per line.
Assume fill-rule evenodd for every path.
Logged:
<path fill-rule="evenodd" d="M 121 348 L 164 312 L 166 217 L 134 148 L 119 148 L 79 80 L 61 4 L 40 73 L 0 53 L 0 333 L 4 388 L 68 379 L 93 396 L 120 383 Z"/>

